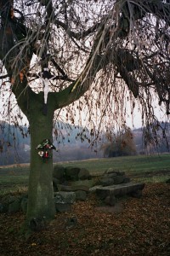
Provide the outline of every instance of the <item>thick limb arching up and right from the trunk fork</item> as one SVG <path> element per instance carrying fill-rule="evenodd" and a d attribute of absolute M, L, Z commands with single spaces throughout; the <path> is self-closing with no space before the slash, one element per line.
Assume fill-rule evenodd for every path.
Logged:
<path fill-rule="evenodd" d="M 130 55 L 130 53 L 128 53 Z M 119 55 L 119 52 L 117 52 Z M 82 75 L 76 82 L 70 84 L 68 88 L 65 90 L 59 91 L 57 94 L 54 95 L 54 101 L 56 102 L 55 109 L 57 108 L 64 108 L 68 106 L 72 102 L 75 102 L 79 99 L 83 94 L 89 89 L 90 85 L 93 83 L 96 74 L 99 72 L 100 69 L 103 69 L 108 64 L 117 64 L 118 72 L 121 74 L 122 79 L 125 80 L 129 90 L 133 92 L 133 95 L 137 97 L 139 95 L 139 86 L 136 80 L 133 79 L 132 75 L 127 73 L 126 67 L 128 63 L 126 62 L 126 55 L 124 57 L 124 66 L 116 63 L 116 56 L 114 55 L 112 49 L 108 50 L 107 54 L 105 55 L 94 55 L 94 60 L 90 63 L 90 60 L 87 62 L 87 66 L 84 68 Z M 133 60 L 133 65 L 131 65 L 132 69 L 138 69 L 139 64 L 137 64 L 137 60 L 133 58 L 131 55 L 131 59 Z M 122 59 L 123 63 L 123 59 Z M 90 64 L 90 69 L 88 70 Z M 88 70 L 88 72 L 86 72 Z M 51 95 L 52 97 L 52 95 Z M 53 97 L 52 97 L 53 98 Z"/>

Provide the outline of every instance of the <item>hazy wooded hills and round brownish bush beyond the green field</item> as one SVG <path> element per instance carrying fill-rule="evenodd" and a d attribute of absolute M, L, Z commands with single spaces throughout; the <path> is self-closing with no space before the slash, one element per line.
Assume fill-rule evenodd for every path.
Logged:
<path fill-rule="evenodd" d="M 65 160 L 85 160 L 90 158 L 116 157 L 135 154 L 164 153 L 168 151 L 167 140 L 162 136 L 162 131 L 157 133 L 159 144 L 148 143 L 144 146 L 144 136 L 141 128 L 131 130 L 126 128 L 114 135 L 107 132 L 103 135 L 103 143 L 98 148 L 90 148 L 88 143 L 88 129 L 82 136 L 81 127 L 59 123 L 60 134 L 58 133 L 54 145 L 59 148 L 54 152 L 54 162 Z M 12 165 L 15 163 L 30 162 L 30 137 L 25 136 L 26 127 L 15 127 L 0 122 L 0 165 Z M 58 129 L 58 131 L 59 131 Z M 65 130 L 67 129 L 67 131 Z M 164 127 L 163 127 L 164 129 Z M 170 125 L 167 126 L 170 131 Z M 35 149 L 36 150 L 36 149 Z"/>

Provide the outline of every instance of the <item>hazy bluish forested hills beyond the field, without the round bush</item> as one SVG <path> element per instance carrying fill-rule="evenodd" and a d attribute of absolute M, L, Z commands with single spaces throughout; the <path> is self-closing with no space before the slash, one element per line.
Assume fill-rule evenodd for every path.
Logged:
<path fill-rule="evenodd" d="M 170 124 L 167 124 L 170 131 Z M 159 144 L 144 145 L 144 132 L 141 128 L 134 129 L 133 141 L 137 154 L 165 153 L 168 152 L 167 142 L 161 131 L 157 132 Z M 54 162 L 69 160 L 85 160 L 104 157 L 102 146 L 106 143 L 105 136 L 94 147 L 89 142 L 90 131 L 82 127 L 63 124 L 59 122 L 54 131 Z M 37 150 L 35 148 L 35 150 Z M 30 162 L 30 136 L 27 127 L 15 127 L 0 122 L 0 165 L 12 165 Z"/>

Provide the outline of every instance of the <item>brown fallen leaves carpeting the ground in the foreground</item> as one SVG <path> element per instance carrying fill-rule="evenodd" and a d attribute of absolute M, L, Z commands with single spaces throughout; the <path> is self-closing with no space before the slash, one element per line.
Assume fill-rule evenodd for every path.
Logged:
<path fill-rule="evenodd" d="M 143 193 L 141 199 L 123 200 L 122 212 L 100 211 L 91 195 L 27 240 L 18 233 L 23 214 L 1 214 L 1 256 L 170 255 L 170 185 L 148 184 Z M 73 217 L 77 224 L 71 228 L 66 220 Z"/>

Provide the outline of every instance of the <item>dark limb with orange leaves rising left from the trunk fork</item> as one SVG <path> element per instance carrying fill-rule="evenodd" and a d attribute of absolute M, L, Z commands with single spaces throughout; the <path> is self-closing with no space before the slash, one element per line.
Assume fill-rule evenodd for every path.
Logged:
<path fill-rule="evenodd" d="M 16 97 L 16 100 L 23 113 L 28 112 L 28 104 L 30 99 L 35 93 L 28 86 L 26 74 L 29 70 L 31 57 L 33 51 L 31 45 L 26 47 L 24 41 L 16 42 L 19 34 L 24 39 L 26 37 L 26 27 L 22 23 L 18 23 L 15 19 L 14 14 L 11 13 L 13 5 L 11 1 L 1 2 L 1 21 L 2 26 L 0 28 L 0 59 L 3 61 L 3 65 L 7 70 L 7 75 L 12 84 L 11 88 Z M 20 58 L 20 47 L 23 46 L 22 52 L 23 57 Z M 4 78 L 4 75 L 3 75 Z"/>

